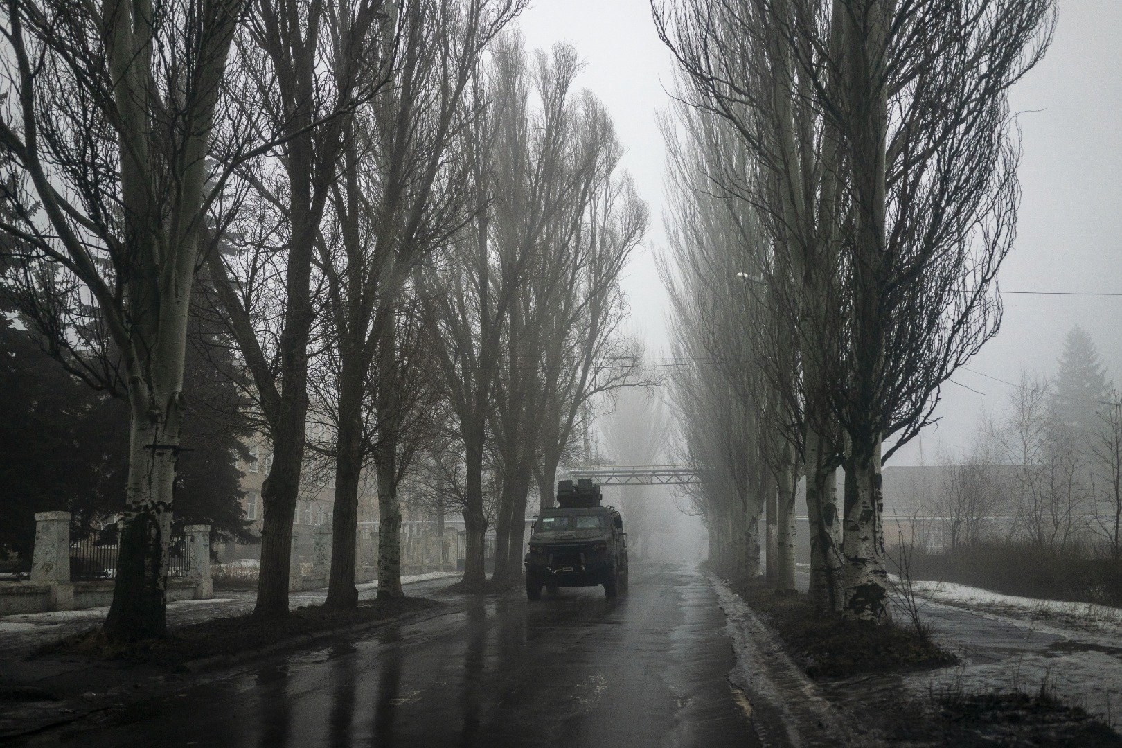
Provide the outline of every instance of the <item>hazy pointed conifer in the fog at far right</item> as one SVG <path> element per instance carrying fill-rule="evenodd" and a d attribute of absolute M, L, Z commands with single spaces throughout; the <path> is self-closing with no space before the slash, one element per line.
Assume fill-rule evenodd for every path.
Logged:
<path fill-rule="evenodd" d="M 1064 338 L 1064 352 L 1058 364 L 1052 388 L 1052 415 L 1074 436 L 1086 438 L 1098 424 L 1095 414 L 1102 408 L 1101 401 L 1106 399 L 1111 384 L 1095 344 L 1079 325 L 1072 327 Z"/>

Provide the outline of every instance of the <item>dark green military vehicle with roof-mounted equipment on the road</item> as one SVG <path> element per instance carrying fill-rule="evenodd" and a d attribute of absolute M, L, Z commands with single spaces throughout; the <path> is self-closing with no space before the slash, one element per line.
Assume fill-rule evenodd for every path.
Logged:
<path fill-rule="evenodd" d="M 558 483 L 558 507 L 534 517 L 526 554 L 526 597 L 541 600 L 561 587 L 604 585 L 604 594 L 627 590 L 627 535 L 615 507 L 600 506 L 590 480 Z"/>

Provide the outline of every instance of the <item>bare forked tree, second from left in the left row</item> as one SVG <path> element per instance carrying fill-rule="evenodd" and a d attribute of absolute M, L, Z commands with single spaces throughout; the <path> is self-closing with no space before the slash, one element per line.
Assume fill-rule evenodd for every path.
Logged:
<path fill-rule="evenodd" d="M 208 262 L 273 443 L 261 487 L 259 616 L 288 613 L 315 320 L 312 266 L 351 116 L 387 79 L 383 52 L 398 29 L 386 24 L 383 4 L 260 0 L 237 39 L 242 107 L 280 133 L 277 148 L 237 169 L 255 193 L 255 210 L 233 227 L 234 251 Z"/>

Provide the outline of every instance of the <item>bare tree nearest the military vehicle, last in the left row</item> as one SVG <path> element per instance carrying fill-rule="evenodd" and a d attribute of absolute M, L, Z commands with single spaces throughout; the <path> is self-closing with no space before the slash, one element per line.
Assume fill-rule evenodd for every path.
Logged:
<path fill-rule="evenodd" d="M 580 68 L 569 45 L 534 56 L 525 74 L 541 113 L 523 126 L 525 160 L 498 159 L 505 198 L 495 206 L 496 240 L 500 251 L 523 258 L 524 274 L 504 326 L 495 390 L 503 469 L 496 579 L 521 571 L 535 463 L 543 459 L 537 472 L 549 474 L 552 489 L 554 461 L 581 406 L 627 376 L 625 357 L 608 349 L 619 318 L 619 271 L 646 212 L 629 181 L 615 176 L 620 151 L 607 112 L 591 94 L 573 92 Z"/>

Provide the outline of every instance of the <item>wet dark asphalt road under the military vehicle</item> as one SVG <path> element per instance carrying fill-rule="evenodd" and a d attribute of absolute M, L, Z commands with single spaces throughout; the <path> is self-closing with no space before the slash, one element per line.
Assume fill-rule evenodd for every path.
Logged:
<path fill-rule="evenodd" d="M 72 746 L 757 745 L 727 675 L 725 616 L 687 564 L 601 588 L 468 598 L 457 612 L 269 661 L 53 730 Z"/>

